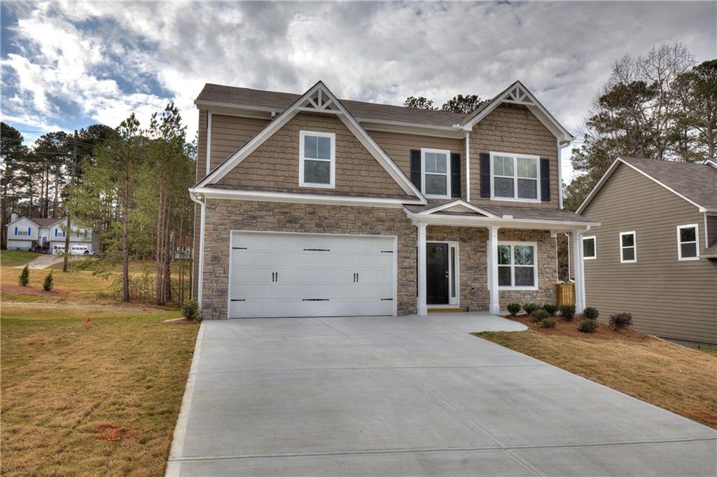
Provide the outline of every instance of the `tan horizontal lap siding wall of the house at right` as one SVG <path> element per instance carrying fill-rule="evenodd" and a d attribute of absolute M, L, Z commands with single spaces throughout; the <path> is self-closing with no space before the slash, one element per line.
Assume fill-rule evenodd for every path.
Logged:
<path fill-rule="evenodd" d="M 619 164 L 582 215 L 602 222 L 597 259 L 585 260 L 588 306 L 601 320 L 632 313 L 635 329 L 670 339 L 717 344 L 717 261 L 678 260 L 677 226 L 698 224 L 693 204 Z M 637 263 L 620 263 L 619 232 L 635 230 Z"/>

